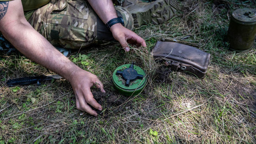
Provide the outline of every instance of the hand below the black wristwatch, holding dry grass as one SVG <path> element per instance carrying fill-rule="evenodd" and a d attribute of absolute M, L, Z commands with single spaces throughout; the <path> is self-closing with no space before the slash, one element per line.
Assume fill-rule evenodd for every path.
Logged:
<path fill-rule="evenodd" d="M 118 42 L 120 42 L 120 44 L 122 45 L 122 47 L 124 48 L 124 50 L 126 52 L 130 51 L 128 43 L 135 44 L 137 46 L 144 46 L 144 47 L 147 46 L 146 42 L 145 42 L 145 40 L 143 40 L 143 38 L 138 36 L 135 32 L 132 32 L 128 28 L 125 28 L 120 23 L 114 24 L 113 26 L 111 26 L 110 31 L 112 32 L 113 37 Z"/>

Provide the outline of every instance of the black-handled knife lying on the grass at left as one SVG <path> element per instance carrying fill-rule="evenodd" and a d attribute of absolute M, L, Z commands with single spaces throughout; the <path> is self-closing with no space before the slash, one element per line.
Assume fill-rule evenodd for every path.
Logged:
<path fill-rule="evenodd" d="M 6 84 L 9 87 L 16 86 L 16 85 L 28 85 L 28 84 L 37 84 L 38 86 L 41 85 L 42 81 L 45 80 L 52 80 L 52 79 L 59 79 L 62 78 L 59 75 L 52 75 L 52 76 L 29 76 L 23 78 L 15 78 L 12 80 L 8 80 Z"/>

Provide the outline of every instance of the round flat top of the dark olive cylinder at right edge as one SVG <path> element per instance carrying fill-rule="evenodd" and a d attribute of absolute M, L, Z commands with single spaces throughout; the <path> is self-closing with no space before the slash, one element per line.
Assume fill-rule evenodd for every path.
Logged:
<path fill-rule="evenodd" d="M 256 22 L 256 9 L 240 8 L 232 13 L 234 19 L 240 22 Z"/>

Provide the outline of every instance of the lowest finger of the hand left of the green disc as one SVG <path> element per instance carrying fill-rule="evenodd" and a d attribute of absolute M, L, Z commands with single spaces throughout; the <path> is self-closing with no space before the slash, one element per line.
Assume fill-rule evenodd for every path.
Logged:
<path fill-rule="evenodd" d="M 83 94 L 80 92 L 76 92 L 76 94 L 77 94 L 78 101 L 80 104 L 80 109 L 87 112 L 90 115 L 98 116 L 97 112 L 95 110 L 92 110 L 92 108 L 90 106 L 88 106 Z"/>

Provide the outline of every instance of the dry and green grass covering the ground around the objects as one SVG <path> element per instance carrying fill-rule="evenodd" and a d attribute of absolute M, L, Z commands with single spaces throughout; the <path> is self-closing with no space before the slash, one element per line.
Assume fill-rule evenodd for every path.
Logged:
<path fill-rule="evenodd" d="M 76 110 L 72 87 L 64 79 L 8 88 L 10 78 L 54 73 L 18 52 L 0 51 L 0 144 L 256 143 L 256 45 L 236 53 L 226 42 L 232 11 L 255 5 L 249 0 L 180 0 L 181 10 L 172 20 L 135 30 L 148 49 L 132 47 L 125 53 L 114 44 L 73 51 L 70 60 L 96 74 L 107 96 L 116 94 L 111 76 L 118 66 L 135 61 L 147 73 L 144 92 L 120 106 L 104 107 L 98 117 Z M 171 72 L 168 82 L 157 83 L 160 65 L 150 50 L 160 38 L 201 44 L 211 54 L 206 77 Z"/>

